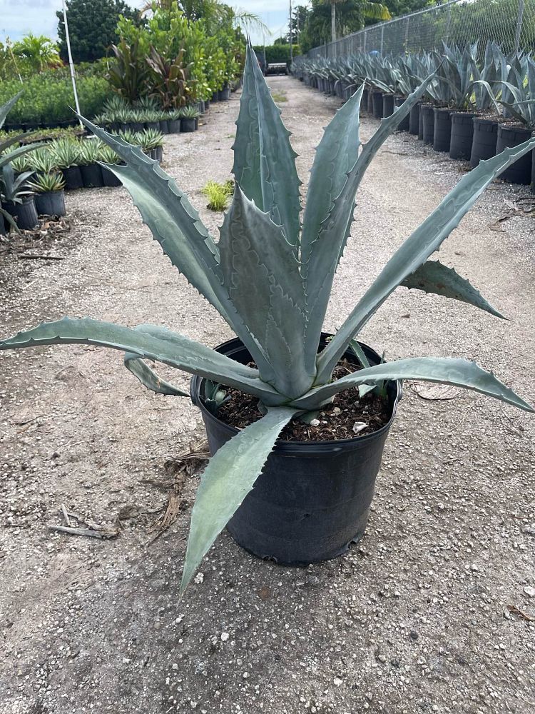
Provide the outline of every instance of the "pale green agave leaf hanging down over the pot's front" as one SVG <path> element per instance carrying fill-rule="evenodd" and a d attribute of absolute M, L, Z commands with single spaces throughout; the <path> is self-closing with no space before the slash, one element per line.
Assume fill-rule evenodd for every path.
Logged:
<path fill-rule="evenodd" d="M 296 413 L 284 407 L 233 436 L 210 459 L 195 496 L 180 595 L 188 586 L 215 538 L 255 485 L 282 428 Z"/>

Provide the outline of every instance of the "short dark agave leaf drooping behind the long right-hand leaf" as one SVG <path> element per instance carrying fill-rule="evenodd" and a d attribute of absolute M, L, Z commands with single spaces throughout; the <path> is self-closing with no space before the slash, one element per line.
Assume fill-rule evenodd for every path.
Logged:
<path fill-rule="evenodd" d="M 442 265 L 440 261 L 426 261 L 400 284 L 403 288 L 415 288 L 423 290 L 424 293 L 434 293 L 469 303 L 491 315 L 504 318 L 466 278 L 462 278 L 454 268 Z"/>

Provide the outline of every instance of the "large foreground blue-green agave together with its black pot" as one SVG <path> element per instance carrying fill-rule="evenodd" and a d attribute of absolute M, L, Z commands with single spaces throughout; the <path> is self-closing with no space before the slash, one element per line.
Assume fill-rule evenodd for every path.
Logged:
<path fill-rule="evenodd" d="M 474 362 L 417 357 L 385 363 L 355 336 L 399 286 L 499 316 L 467 280 L 429 257 L 492 179 L 533 148 L 535 139 L 463 176 L 397 249 L 340 330 L 322 333 L 357 188 L 428 82 L 383 119 L 364 146 L 363 86 L 337 111 L 317 147 L 301 223 L 296 155 L 248 47 L 233 147 L 235 192 L 217 243 L 156 161 L 83 120 L 124 161 L 111 169 L 163 251 L 237 337 L 212 350 L 161 326 L 63 318 L 0 341 L 0 349 L 66 343 L 113 348 L 125 354 L 126 367 L 144 386 L 167 395 L 188 396 L 159 378 L 146 360 L 194 375 L 191 396 L 203 414 L 213 457 L 195 498 L 181 592 L 227 525 L 244 548 L 294 565 L 333 558 L 360 538 L 402 380 L 453 384 L 534 411 Z M 333 400 L 342 396 L 363 405 L 370 423 L 362 420 L 365 426 L 350 428 L 346 438 L 325 439 L 323 422 L 335 423 Z M 238 426 L 224 416 L 233 401 L 248 404 L 252 415 Z M 372 426 L 374 403 L 382 418 Z M 314 429 L 320 441 L 292 440 Z"/>

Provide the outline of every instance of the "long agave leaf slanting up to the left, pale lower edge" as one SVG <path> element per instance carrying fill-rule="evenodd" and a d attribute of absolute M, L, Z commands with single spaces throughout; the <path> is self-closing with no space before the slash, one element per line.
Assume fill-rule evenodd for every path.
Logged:
<path fill-rule="evenodd" d="M 126 162 L 126 166 L 108 166 L 131 194 L 143 221 L 163 248 L 171 263 L 183 273 L 201 295 L 218 310 L 248 347 L 258 367 L 269 375 L 265 356 L 251 338 L 242 319 L 233 310 L 219 269 L 219 251 L 199 214 L 180 191 L 173 178 L 165 174 L 157 161 L 148 159 L 138 147 L 118 136 L 108 134 L 88 119 L 81 121 Z"/>

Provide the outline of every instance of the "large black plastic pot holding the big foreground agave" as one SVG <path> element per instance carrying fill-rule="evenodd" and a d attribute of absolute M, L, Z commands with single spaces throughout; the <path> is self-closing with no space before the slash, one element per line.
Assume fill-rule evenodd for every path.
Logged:
<path fill-rule="evenodd" d="M 379 363 L 376 352 L 362 348 L 370 362 Z M 241 363 L 250 361 L 238 339 L 216 350 Z M 238 430 L 210 413 L 201 393 L 203 380 L 195 376 L 191 398 L 200 407 L 214 454 Z M 234 540 L 258 558 L 302 566 L 336 558 L 362 538 L 384 442 L 401 397 L 400 384 L 389 382 L 387 394 L 389 421 L 370 435 L 340 441 L 277 441 L 253 491 L 228 523 Z"/>

